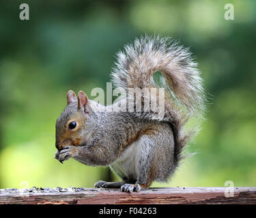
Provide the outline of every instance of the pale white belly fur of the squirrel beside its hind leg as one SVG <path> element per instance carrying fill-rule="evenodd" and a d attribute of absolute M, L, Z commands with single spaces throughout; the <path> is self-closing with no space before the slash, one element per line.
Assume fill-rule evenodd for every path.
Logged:
<path fill-rule="evenodd" d="M 141 152 L 141 142 L 134 142 L 122 152 L 120 157 L 111 165 L 111 168 L 121 178 L 137 181 L 138 169 L 136 166 Z"/>

